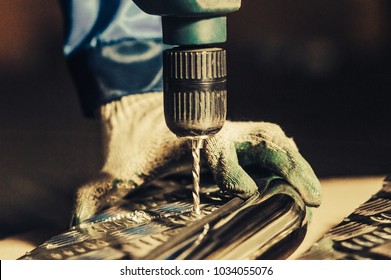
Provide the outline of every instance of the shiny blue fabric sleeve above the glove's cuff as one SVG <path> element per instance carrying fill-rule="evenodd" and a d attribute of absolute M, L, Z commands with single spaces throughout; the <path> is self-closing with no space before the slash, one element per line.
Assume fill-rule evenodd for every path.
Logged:
<path fill-rule="evenodd" d="M 133 93 L 162 91 L 161 21 L 131 0 L 60 0 L 64 54 L 83 112 Z"/>

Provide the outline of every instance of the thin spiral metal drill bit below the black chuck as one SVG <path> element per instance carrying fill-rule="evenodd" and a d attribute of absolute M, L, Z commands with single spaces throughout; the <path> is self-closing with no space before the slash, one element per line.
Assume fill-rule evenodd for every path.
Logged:
<path fill-rule="evenodd" d="M 193 155 L 193 212 L 201 215 L 200 209 L 200 150 L 203 146 L 204 139 L 191 140 L 191 153 Z"/>

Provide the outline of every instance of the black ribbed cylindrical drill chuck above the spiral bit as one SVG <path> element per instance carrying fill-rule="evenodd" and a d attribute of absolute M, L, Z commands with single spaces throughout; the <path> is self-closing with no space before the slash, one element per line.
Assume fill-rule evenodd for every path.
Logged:
<path fill-rule="evenodd" d="M 226 52 L 177 47 L 163 53 L 164 116 L 178 137 L 207 138 L 227 112 Z"/>

